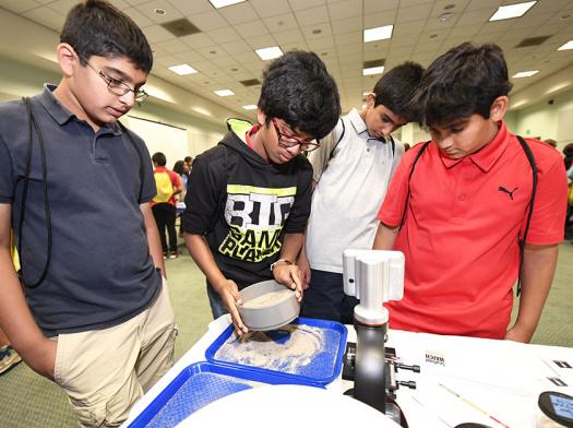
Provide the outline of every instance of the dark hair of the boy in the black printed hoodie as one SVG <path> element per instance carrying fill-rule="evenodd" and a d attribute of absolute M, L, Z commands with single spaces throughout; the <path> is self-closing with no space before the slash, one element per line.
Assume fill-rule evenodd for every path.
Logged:
<path fill-rule="evenodd" d="M 322 139 L 338 121 L 341 97 L 317 54 L 293 50 L 264 71 L 259 108 L 266 123 L 279 118 L 294 130 Z"/>

